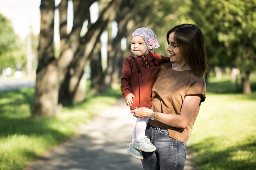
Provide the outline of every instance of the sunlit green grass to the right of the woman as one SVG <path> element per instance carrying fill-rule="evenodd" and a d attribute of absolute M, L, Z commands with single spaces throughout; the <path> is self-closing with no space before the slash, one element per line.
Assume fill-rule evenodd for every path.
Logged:
<path fill-rule="evenodd" d="M 255 85 L 244 95 L 227 77 L 210 79 L 188 144 L 200 170 L 256 170 Z"/>

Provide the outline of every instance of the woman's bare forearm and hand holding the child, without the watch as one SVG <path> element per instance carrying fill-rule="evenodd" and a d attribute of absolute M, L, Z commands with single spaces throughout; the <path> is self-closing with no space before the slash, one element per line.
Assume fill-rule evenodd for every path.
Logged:
<path fill-rule="evenodd" d="M 194 116 L 194 113 L 200 104 L 200 100 L 201 98 L 199 96 L 186 96 L 180 110 L 180 115 L 156 112 L 155 120 L 160 121 L 168 126 L 184 129 L 188 126 L 189 121 Z M 153 110 L 146 107 L 140 107 L 131 110 L 131 113 L 135 117 L 145 118 L 150 117 L 153 113 Z"/>

